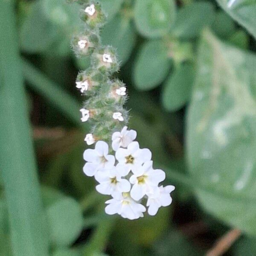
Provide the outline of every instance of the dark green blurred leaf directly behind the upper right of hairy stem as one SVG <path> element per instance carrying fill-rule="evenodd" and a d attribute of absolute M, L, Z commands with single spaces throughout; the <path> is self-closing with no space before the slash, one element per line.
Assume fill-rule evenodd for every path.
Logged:
<path fill-rule="evenodd" d="M 117 54 L 124 64 L 130 57 L 136 40 L 131 19 L 124 15 L 116 15 L 104 26 L 101 36 L 103 44 L 112 45 L 117 49 Z"/>

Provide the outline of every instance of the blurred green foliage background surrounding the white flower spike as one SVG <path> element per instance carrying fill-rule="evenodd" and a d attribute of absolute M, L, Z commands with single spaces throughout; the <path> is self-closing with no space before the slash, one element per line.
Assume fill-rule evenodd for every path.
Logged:
<path fill-rule="evenodd" d="M 100 2 L 129 127 L 173 203 L 136 221 L 105 214 L 82 172 L 79 5 L 0 0 L 0 255 L 256 255 L 255 0 Z"/>

